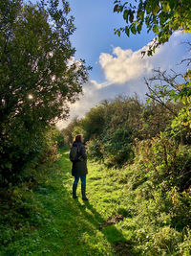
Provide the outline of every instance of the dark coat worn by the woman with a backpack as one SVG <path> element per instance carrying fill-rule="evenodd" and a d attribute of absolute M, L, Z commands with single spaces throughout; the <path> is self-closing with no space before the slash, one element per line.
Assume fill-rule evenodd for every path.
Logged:
<path fill-rule="evenodd" d="M 77 147 L 79 154 L 81 155 L 81 160 L 78 160 L 76 162 L 73 162 L 73 166 L 72 166 L 72 175 L 73 176 L 83 176 L 83 175 L 87 175 L 88 174 L 88 169 L 87 169 L 87 154 L 86 154 L 86 148 L 85 146 L 80 143 L 80 142 L 74 142 L 73 143 L 73 147 Z M 70 151 L 70 156 L 73 153 L 71 148 Z M 71 158 L 71 157 L 70 157 Z M 73 158 L 73 155 L 72 155 Z"/>

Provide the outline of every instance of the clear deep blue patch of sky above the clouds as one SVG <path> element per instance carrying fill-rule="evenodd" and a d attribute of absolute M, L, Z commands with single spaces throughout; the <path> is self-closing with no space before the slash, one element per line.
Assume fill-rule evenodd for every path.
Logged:
<path fill-rule="evenodd" d="M 103 81 L 104 77 L 99 61 L 100 53 L 112 53 L 112 46 L 120 46 L 123 49 L 138 50 L 153 39 L 152 34 L 132 35 L 118 37 L 114 28 L 123 26 L 124 20 L 121 14 L 113 12 L 113 0 L 70 0 L 76 31 L 71 37 L 76 48 L 76 58 L 84 58 L 87 64 L 93 67 L 90 72 L 91 79 Z"/>

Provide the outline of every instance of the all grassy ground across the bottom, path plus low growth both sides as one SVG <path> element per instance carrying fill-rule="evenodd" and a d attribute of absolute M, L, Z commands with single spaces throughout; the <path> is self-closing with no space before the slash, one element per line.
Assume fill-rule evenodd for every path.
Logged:
<path fill-rule="evenodd" d="M 80 184 L 73 199 L 69 152 L 61 153 L 44 182 L 15 189 L 11 205 L 1 205 L 1 256 L 190 255 L 189 194 L 167 197 L 136 165 L 117 170 L 90 162 L 89 202 Z"/>

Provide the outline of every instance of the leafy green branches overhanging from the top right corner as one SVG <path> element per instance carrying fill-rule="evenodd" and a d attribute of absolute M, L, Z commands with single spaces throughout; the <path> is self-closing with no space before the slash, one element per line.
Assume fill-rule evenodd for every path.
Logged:
<path fill-rule="evenodd" d="M 120 35 L 120 32 L 125 32 L 128 36 L 140 34 L 143 25 L 146 25 L 147 32 L 153 31 L 156 35 L 147 51 L 148 56 L 152 56 L 156 47 L 167 42 L 174 32 L 191 32 L 191 2 L 189 0 L 135 0 L 134 4 L 131 2 L 129 5 L 126 1 L 116 0 L 114 3 L 114 12 L 122 12 L 127 23 L 124 28 L 116 30 L 117 35 Z M 190 45 L 189 42 L 188 44 Z M 142 55 L 144 56 L 145 53 L 143 51 Z M 182 61 L 187 61 L 188 65 L 190 64 L 190 58 Z M 191 128 L 190 70 L 186 72 L 184 79 L 185 81 L 176 90 L 173 88 L 170 92 L 174 101 L 180 101 L 184 105 L 174 121 L 174 128 L 177 126 Z M 168 85 L 161 86 L 162 90 L 165 90 L 166 86 Z"/>

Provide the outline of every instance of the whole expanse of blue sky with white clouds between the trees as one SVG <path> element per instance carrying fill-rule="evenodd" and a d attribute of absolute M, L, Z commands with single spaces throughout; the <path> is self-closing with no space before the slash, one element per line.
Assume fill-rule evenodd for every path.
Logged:
<path fill-rule="evenodd" d="M 58 128 L 65 128 L 75 116 L 83 117 L 91 107 L 119 94 L 133 96 L 136 92 L 144 100 L 147 91 L 144 77 L 152 77 L 154 69 L 185 71 L 180 60 L 189 53 L 182 42 L 191 39 L 191 35 L 176 32 L 153 57 L 141 58 L 141 51 L 154 35 L 147 34 L 146 29 L 130 37 L 115 35 L 114 29 L 123 27 L 125 21 L 121 13 L 113 12 L 113 0 L 69 0 L 69 3 L 76 27 L 71 36 L 76 50 L 74 58 L 85 59 L 93 70 L 83 85 L 80 100 L 70 107 L 70 118 L 59 121 Z"/>

